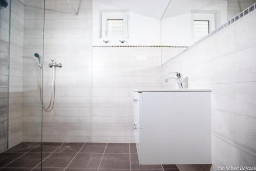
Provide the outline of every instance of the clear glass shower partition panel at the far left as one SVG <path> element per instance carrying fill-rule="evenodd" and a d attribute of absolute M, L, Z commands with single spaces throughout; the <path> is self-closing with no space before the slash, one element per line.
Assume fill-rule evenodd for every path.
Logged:
<path fill-rule="evenodd" d="M 45 0 L 0 1 L 0 168 L 41 168 Z"/>

